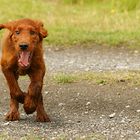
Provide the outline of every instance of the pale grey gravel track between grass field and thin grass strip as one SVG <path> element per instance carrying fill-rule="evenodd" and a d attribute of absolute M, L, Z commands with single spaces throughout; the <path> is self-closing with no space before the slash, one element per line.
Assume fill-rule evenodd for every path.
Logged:
<path fill-rule="evenodd" d="M 51 72 L 139 70 L 138 50 L 124 48 L 46 49 L 46 62 Z"/>

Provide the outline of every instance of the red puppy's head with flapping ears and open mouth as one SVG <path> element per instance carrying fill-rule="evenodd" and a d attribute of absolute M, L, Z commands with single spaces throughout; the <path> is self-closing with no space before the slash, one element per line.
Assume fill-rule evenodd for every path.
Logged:
<path fill-rule="evenodd" d="M 48 35 L 43 28 L 43 23 L 31 19 L 21 19 L 0 24 L 0 29 L 4 28 L 10 31 L 10 39 L 18 55 L 18 65 L 21 68 L 28 68 L 35 47 Z"/>

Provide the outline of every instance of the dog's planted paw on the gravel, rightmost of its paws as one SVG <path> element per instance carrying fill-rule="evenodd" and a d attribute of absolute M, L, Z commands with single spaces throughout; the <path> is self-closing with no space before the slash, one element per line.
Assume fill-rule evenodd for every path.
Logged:
<path fill-rule="evenodd" d="M 37 115 L 36 121 L 37 122 L 51 122 L 51 120 L 49 119 L 46 113 Z"/>

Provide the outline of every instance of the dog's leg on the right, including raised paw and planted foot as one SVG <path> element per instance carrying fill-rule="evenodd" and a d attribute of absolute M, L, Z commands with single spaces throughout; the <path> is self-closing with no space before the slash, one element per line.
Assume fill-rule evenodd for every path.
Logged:
<path fill-rule="evenodd" d="M 45 113 L 42 99 L 42 85 L 44 72 L 42 70 L 32 72 L 30 75 L 31 84 L 28 89 L 28 94 L 24 101 L 24 110 L 27 114 L 31 114 L 37 110 L 37 121 L 50 121 Z"/>

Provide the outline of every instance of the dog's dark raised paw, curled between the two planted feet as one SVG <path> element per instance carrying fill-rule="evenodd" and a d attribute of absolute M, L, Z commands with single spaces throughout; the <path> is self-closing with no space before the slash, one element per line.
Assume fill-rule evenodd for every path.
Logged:
<path fill-rule="evenodd" d="M 37 101 L 34 100 L 33 98 L 31 98 L 29 95 L 27 95 L 25 97 L 23 107 L 24 107 L 26 114 L 32 114 L 33 112 L 36 111 Z"/>

